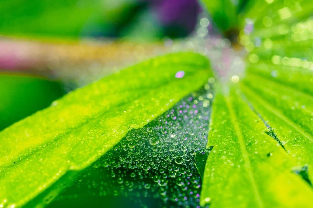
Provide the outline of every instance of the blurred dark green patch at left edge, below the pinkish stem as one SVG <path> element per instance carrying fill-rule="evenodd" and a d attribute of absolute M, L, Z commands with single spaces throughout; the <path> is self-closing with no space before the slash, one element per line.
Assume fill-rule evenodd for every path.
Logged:
<path fill-rule="evenodd" d="M 0 130 L 48 107 L 64 94 L 61 85 L 39 77 L 0 74 Z"/>

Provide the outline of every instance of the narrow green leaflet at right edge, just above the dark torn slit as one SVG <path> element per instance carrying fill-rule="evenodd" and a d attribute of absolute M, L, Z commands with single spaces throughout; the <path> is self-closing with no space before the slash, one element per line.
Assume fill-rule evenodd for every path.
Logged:
<path fill-rule="evenodd" d="M 256 83 L 266 83 L 267 87 Z M 255 75 L 247 76 L 241 88 L 298 165 L 309 167 L 312 180 L 313 97 Z"/>

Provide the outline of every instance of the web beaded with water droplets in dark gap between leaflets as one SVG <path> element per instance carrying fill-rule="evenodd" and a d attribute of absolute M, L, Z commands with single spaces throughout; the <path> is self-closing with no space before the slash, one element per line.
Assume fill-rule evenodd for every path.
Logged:
<path fill-rule="evenodd" d="M 158 201 L 153 206 L 198 207 L 202 181 L 195 154 L 206 148 L 212 99 L 212 84 L 206 84 L 131 130 L 50 206 L 89 195 L 128 197 L 143 207 L 149 206 L 147 198 Z"/>

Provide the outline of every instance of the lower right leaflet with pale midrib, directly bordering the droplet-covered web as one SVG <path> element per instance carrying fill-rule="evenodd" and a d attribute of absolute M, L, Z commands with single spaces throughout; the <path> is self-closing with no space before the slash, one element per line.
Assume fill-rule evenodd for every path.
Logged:
<path fill-rule="evenodd" d="M 312 207 L 313 191 L 292 172 L 297 163 L 264 132 L 236 87 L 213 103 L 200 204 L 210 207 Z"/>

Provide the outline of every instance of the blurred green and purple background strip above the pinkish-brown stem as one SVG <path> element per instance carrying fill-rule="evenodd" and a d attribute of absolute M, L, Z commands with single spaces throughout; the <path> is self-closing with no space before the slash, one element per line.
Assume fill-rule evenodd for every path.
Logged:
<path fill-rule="evenodd" d="M 197 21 L 197 0 L 3 1 L 0 31 L 20 37 L 134 37 L 188 35 Z"/>

